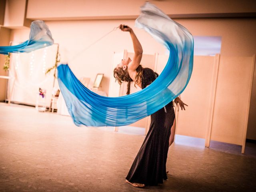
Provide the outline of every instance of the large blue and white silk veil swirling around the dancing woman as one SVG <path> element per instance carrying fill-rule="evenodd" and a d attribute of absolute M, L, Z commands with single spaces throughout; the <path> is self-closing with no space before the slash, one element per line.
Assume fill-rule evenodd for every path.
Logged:
<path fill-rule="evenodd" d="M 146 30 L 170 51 L 164 70 L 147 88 L 127 96 L 110 98 L 88 90 L 67 64 L 60 64 L 60 90 L 77 126 L 131 124 L 163 108 L 186 88 L 193 68 L 192 35 L 149 2 L 141 7 L 141 12 L 136 19 L 136 27 Z"/>

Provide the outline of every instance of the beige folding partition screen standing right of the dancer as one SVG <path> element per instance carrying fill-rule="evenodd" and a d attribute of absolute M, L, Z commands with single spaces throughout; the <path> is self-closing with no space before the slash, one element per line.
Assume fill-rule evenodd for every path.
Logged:
<path fill-rule="evenodd" d="M 161 72 L 167 56 L 158 56 Z M 237 144 L 244 153 L 252 91 L 252 57 L 194 56 L 190 82 L 181 94 L 188 104 L 176 113 L 176 134 Z"/>

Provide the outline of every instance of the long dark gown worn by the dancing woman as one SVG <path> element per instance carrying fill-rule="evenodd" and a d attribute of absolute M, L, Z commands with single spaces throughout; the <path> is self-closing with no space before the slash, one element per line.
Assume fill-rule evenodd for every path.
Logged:
<path fill-rule="evenodd" d="M 144 68 L 142 72 L 142 89 L 157 77 L 158 74 L 153 70 Z M 156 186 L 167 179 L 166 160 L 174 118 L 172 102 L 151 114 L 148 134 L 126 176 L 129 182 Z"/>

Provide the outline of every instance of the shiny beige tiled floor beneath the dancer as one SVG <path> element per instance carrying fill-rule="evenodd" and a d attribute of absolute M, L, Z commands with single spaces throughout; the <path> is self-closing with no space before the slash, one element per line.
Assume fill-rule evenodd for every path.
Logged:
<path fill-rule="evenodd" d="M 144 140 L 111 128 L 76 127 L 70 117 L 0 104 L 0 191 L 256 191 L 255 144 L 240 146 L 177 136 L 168 181 L 134 188 L 125 177 Z M 134 131 L 134 130 L 133 130 Z"/>

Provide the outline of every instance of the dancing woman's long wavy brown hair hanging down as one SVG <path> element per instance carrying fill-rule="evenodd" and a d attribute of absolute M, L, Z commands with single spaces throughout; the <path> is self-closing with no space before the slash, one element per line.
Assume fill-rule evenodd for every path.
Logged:
<path fill-rule="evenodd" d="M 141 82 L 141 79 L 142 79 L 142 70 L 143 70 L 143 67 L 142 65 L 139 65 L 136 69 L 136 81 L 134 83 L 134 86 L 136 87 L 136 84 L 138 82 Z M 127 92 L 126 94 L 130 94 L 130 88 L 131 88 L 131 82 L 133 81 L 132 78 L 130 78 L 129 74 L 128 74 L 128 67 L 126 68 L 126 70 L 123 70 L 122 67 L 116 67 L 114 68 L 114 78 L 116 78 L 116 81 L 118 82 L 118 84 L 122 84 L 122 82 L 128 82 L 127 84 Z"/>

